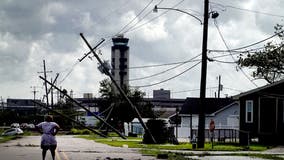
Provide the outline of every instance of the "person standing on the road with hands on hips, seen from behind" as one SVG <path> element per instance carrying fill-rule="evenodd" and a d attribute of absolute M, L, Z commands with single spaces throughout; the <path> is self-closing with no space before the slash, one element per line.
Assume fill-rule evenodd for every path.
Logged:
<path fill-rule="evenodd" d="M 36 128 L 42 134 L 40 142 L 42 159 L 45 160 L 46 152 L 50 150 L 52 159 L 55 160 L 55 149 L 57 147 L 55 135 L 59 131 L 59 125 L 53 122 L 51 115 L 47 115 L 45 121 L 36 125 Z"/>

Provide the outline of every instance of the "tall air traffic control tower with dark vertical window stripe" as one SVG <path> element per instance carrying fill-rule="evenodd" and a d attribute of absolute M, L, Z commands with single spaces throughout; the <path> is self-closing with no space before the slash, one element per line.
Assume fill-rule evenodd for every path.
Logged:
<path fill-rule="evenodd" d="M 117 35 L 112 38 L 113 46 L 111 47 L 111 74 L 117 84 L 122 87 L 129 85 L 129 39 L 123 35 Z"/>

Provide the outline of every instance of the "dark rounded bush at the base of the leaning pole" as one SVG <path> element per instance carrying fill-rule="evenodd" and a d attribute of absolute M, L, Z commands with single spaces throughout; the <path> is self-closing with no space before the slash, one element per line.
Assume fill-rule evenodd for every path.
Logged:
<path fill-rule="evenodd" d="M 150 130 L 151 134 L 155 138 L 158 144 L 167 143 L 169 139 L 169 133 L 167 129 L 166 122 L 164 120 L 155 120 L 150 119 L 147 121 L 146 126 Z M 143 136 L 143 143 L 145 144 L 153 144 L 153 140 L 151 136 L 145 132 Z"/>

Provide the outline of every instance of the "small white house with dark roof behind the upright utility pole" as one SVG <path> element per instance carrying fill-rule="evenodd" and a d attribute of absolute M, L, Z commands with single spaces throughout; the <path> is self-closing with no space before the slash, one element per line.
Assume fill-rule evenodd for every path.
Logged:
<path fill-rule="evenodd" d="M 198 129 L 199 98 L 187 98 L 179 112 L 181 119 L 178 126 L 178 138 L 190 137 Z M 216 129 L 239 129 L 239 104 L 231 98 L 206 98 L 205 129 L 208 129 L 210 120 L 215 122 Z M 194 132 L 195 131 L 195 132 Z M 175 128 L 176 136 L 176 128 Z"/>

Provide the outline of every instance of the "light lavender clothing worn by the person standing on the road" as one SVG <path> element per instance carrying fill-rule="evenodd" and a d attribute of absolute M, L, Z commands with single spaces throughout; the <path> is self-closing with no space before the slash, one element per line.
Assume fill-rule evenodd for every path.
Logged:
<path fill-rule="evenodd" d="M 54 133 L 55 127 L 59 128 L 59 125 L 55 122 L 41 122 L 37 125 L 39 129 L 42 129 L 42 136 L 41 136 L 41 144 L 42 145 L 56 145 L 57 141 L 55 136 L 52 134 Z"/>

